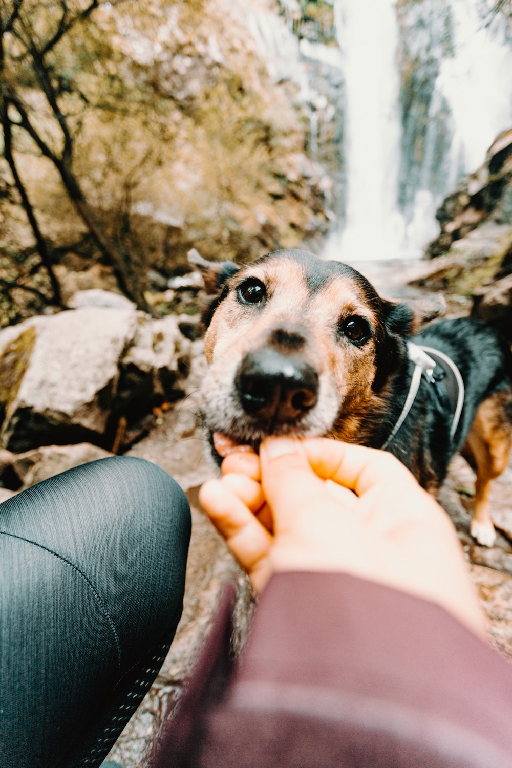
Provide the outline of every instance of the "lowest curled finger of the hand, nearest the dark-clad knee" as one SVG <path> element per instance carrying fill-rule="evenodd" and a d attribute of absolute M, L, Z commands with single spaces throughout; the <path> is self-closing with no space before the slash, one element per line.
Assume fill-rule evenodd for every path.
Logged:
<path fill-rule="evenodd" d="M 272 545 L 273 537 L 269 531 L 224 480 L 204 483 L 199 500 L 206 515 L 226 539 L 236 560 L 252 578 L 252 572 L 266 558 Z"/>

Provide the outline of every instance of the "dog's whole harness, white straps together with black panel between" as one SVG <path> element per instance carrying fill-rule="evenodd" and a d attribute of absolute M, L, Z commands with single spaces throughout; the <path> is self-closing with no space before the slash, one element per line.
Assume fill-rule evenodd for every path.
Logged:
<path fill-rule="evenodd" d="M 424 377 L 431 385 L 439 408 L 444 413 L 452 416 L 450 439 L 454 438 L 459 419 L 461 419 L 462 406 L 464 405 L 464 382 L 462 381 L 461 372 L 454 361 L 438 349 L 412 342 L 408 342 L 408 355 L 412 362 L 415 363 L 415 369 L 411 376 L 411 385 L 405 398 L 404 407 L 401 409 L 401 414 L 398 416 L 398 420 L 391 430 L 388 439 L 382 445 L 382 450 L 388 448 L 398 429 L 405 422 L 418 394 L 421 377 Z"/>

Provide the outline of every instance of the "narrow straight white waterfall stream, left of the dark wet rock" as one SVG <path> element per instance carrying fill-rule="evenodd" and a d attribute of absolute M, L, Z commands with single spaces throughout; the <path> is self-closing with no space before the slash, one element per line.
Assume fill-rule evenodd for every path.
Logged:
<path fill-rule="evenodd" d="M 346 222 L 338 257 L 392 257 L 404 237 L 397 204 L 400 114 L 395 0 L 378 0 L 371 9 L 361 0 L 335 0 L 335 29 L 344 61 L 348 144 Z M 338 250 L 335 242 L 332 246 Z"/>

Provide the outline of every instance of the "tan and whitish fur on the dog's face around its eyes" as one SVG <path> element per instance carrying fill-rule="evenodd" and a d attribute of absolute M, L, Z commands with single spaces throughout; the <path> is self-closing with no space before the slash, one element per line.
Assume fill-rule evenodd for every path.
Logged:
<path fill-rule="evenodd" d="M 237 300 L 236 286 L 249 276 L 266 286 L 267 300 L 263 306 L 246 306 Z M 350 276 L 333 276 L 311 293 L 302 265 L 292 258 L 281 258 L 246 266 L 227 284 L 230 293 L 217 307 L 206 333 L 206 359 L 215 392 L 206 398 L 217 398 L 220 412 L 233 413 L 230 390 L 243 357 L 268 344 L 276 328 L 292 327 L 304 336 L 301 355 L 320 377 L 319 402 L 312 413 L 315 424 L 323 421 L 328 435 L 359 441 L 362 415 L 372 412 L 375 406 L 379 410 L 372 391 L 375 343 L 370 339 L 357 347 L 336 333 L 340 319 L 351 315 L 364 316 L 375 328 L 375 313 L 358 283 Z M 343 423 L 336 423 L 330 432 L 342 404 Z M 212 405 L 213 412 L 215 408 Z"/>

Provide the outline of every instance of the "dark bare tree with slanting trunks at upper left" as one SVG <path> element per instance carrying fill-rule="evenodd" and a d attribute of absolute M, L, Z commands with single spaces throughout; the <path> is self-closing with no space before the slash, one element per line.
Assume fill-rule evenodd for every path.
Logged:
<path fill-rule="evenodd" d="M 66 38 L 82 27 L 104 3 L 101 0 L 12 0 L 0 5 L 0 124 L 3 156 L 35 238 L 41 263 L 45 266 L 55 303 L 61 303 L 58 280 L 53 270 L 51 247 L 41 232 L 35 208 L 15 160 L 15 144 L 25 133 L 42 157 L 51 162 L 69 199 L 84 222 L 104 260 L 111 264 L 121 290 L 144 308 L 140 279 L 124 243 L 104 232 L 94 207 L 74 173 L 75 138 L 80 119 L 73 108 L 77 101 L 88 107 L 88 98 L 69 77 L 57 51 Z M 58 11 L 56 13 L 56 11 Z M 44 101 L 43 101 L 44 100 Z M 42 117 L 38 108 L 43 103 Z M 80 113 L 78 113 L 80 114 Z"/>

